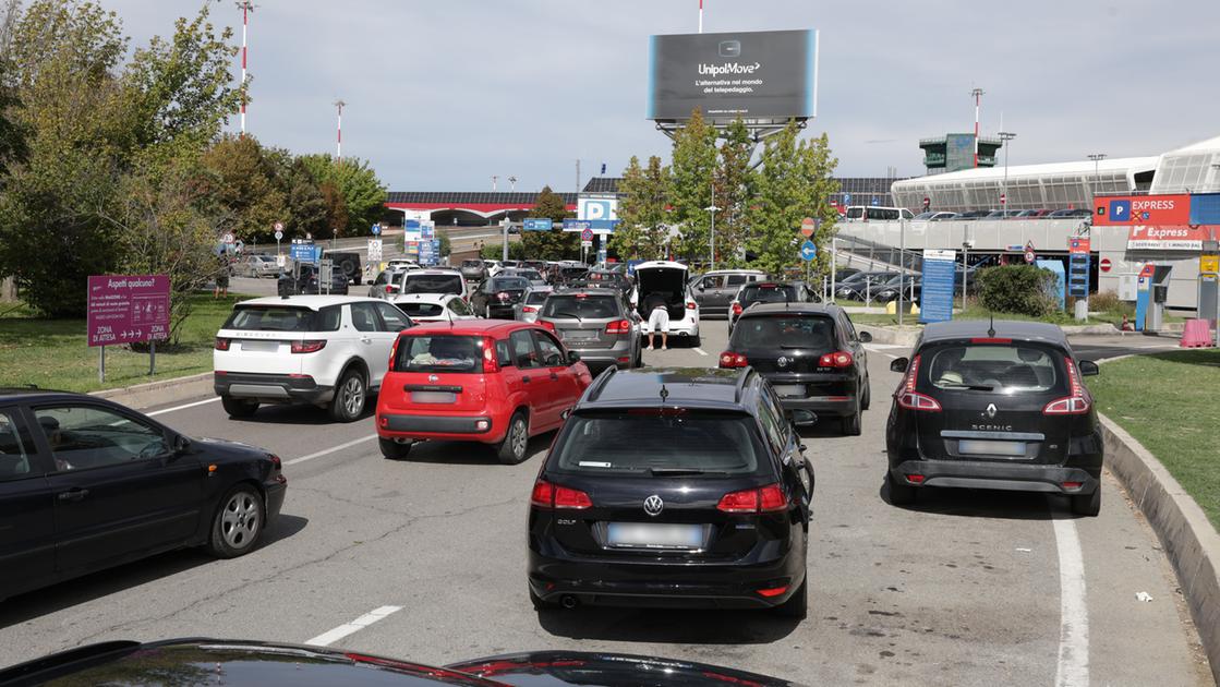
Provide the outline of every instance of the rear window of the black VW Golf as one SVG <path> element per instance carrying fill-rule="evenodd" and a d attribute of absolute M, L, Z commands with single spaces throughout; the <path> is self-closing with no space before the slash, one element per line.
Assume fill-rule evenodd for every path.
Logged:
<path fill-rule="evenodd" d="M 659 409 L 582 412 L 567 420 L 553 462 L 564 472 L 753 475 L 767 469 L 748 415 Z"/>

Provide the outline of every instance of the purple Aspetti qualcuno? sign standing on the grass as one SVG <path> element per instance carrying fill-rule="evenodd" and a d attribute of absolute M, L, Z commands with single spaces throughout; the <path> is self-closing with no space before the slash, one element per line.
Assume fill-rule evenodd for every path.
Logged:
<path fill-rule="evenodd" d="M 89 277 L 89 345 L 112 345 L 170 336 L 170 277 Z"/>

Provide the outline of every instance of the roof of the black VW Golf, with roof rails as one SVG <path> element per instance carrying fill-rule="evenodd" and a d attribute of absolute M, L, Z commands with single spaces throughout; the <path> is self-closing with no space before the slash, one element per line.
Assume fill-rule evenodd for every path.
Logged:
<path fill-rule="evenodd" d="M 615 370 L 599 375 L 589 387 L 580 410 L 600 408 L 702 408 L 745 410 L 752 371 L 709 367 L 648 367 Z M 661 388 L 665 398 L 661 398 Z"/>

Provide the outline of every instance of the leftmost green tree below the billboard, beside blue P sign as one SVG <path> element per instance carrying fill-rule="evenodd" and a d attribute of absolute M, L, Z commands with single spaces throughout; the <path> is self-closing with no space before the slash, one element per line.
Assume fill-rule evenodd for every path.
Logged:
<path fill-rule="evenodd" d="M 610 236 L 610 245 L 623 260 L 656 260 L 665 256 L 670 239 L 669 212 L 670 168 L 653 155 L 648 168 L 639 159 L 631 157 L 619 183 L 619 226 Z"/>

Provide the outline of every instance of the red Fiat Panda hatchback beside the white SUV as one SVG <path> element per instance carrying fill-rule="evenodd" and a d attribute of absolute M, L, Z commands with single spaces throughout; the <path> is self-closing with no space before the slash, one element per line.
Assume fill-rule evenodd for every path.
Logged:
<path fill-rule="evenodd" d="M 526 458 L 529 437 L 559 428 L 593 382 L 576 351 L 538 325 L 465 320 L 401 332 L 377 398 L 382 455 L 414 442 L 482 442 L 500 462 Z"/>

